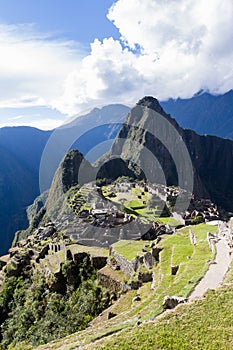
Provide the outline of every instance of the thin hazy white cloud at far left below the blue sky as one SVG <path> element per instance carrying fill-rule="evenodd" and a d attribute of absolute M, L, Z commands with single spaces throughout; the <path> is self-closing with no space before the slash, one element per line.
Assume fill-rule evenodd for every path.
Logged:
<path fill-rule="evenodd" d="M 33 25 L 0 25 L 0 108 L 51 105 L 83 55 Z"/>

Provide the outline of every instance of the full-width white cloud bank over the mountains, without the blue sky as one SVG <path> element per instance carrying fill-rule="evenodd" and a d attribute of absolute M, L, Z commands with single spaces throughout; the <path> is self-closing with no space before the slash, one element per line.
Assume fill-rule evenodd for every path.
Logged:
<path fill-rule="evenodd" d="M 232 0 L 118 0 L 107 16 L 120 40 L 97 38 L 88 53 L 78 43 L 1 26 L 0 106 L 47 105 L 74 115 L 144 95 L 165 100 L 233 88 Z"/>

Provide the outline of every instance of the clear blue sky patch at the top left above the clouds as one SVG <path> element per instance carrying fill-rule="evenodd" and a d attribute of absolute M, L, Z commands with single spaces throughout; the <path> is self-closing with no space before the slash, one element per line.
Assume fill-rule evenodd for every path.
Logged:
<path fill-rule="evenodd" d="M 106 14 L 113 0 L 0 0 L 0 21 L 34 23 L 41 32 L 54 32 L 83 43 L 113 36 L 119 31 Z"/>

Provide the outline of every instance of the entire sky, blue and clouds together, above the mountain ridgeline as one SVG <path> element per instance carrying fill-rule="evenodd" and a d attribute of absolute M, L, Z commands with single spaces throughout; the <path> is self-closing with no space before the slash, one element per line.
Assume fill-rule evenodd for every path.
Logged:
<path fill-rule="evenodd" d="M 0 127 L 233 88 L 232 0 L 0 0 Z"/>

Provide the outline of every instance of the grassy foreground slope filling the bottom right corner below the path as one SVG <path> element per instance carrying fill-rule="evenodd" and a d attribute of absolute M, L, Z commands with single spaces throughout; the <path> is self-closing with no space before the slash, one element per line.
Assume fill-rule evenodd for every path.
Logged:
<path fill-rule="evenodd" d="M 208 291 L 155 322 L 121 331 L 90 349 L 230 350 L 233 345 L 233 285 Z"/>

